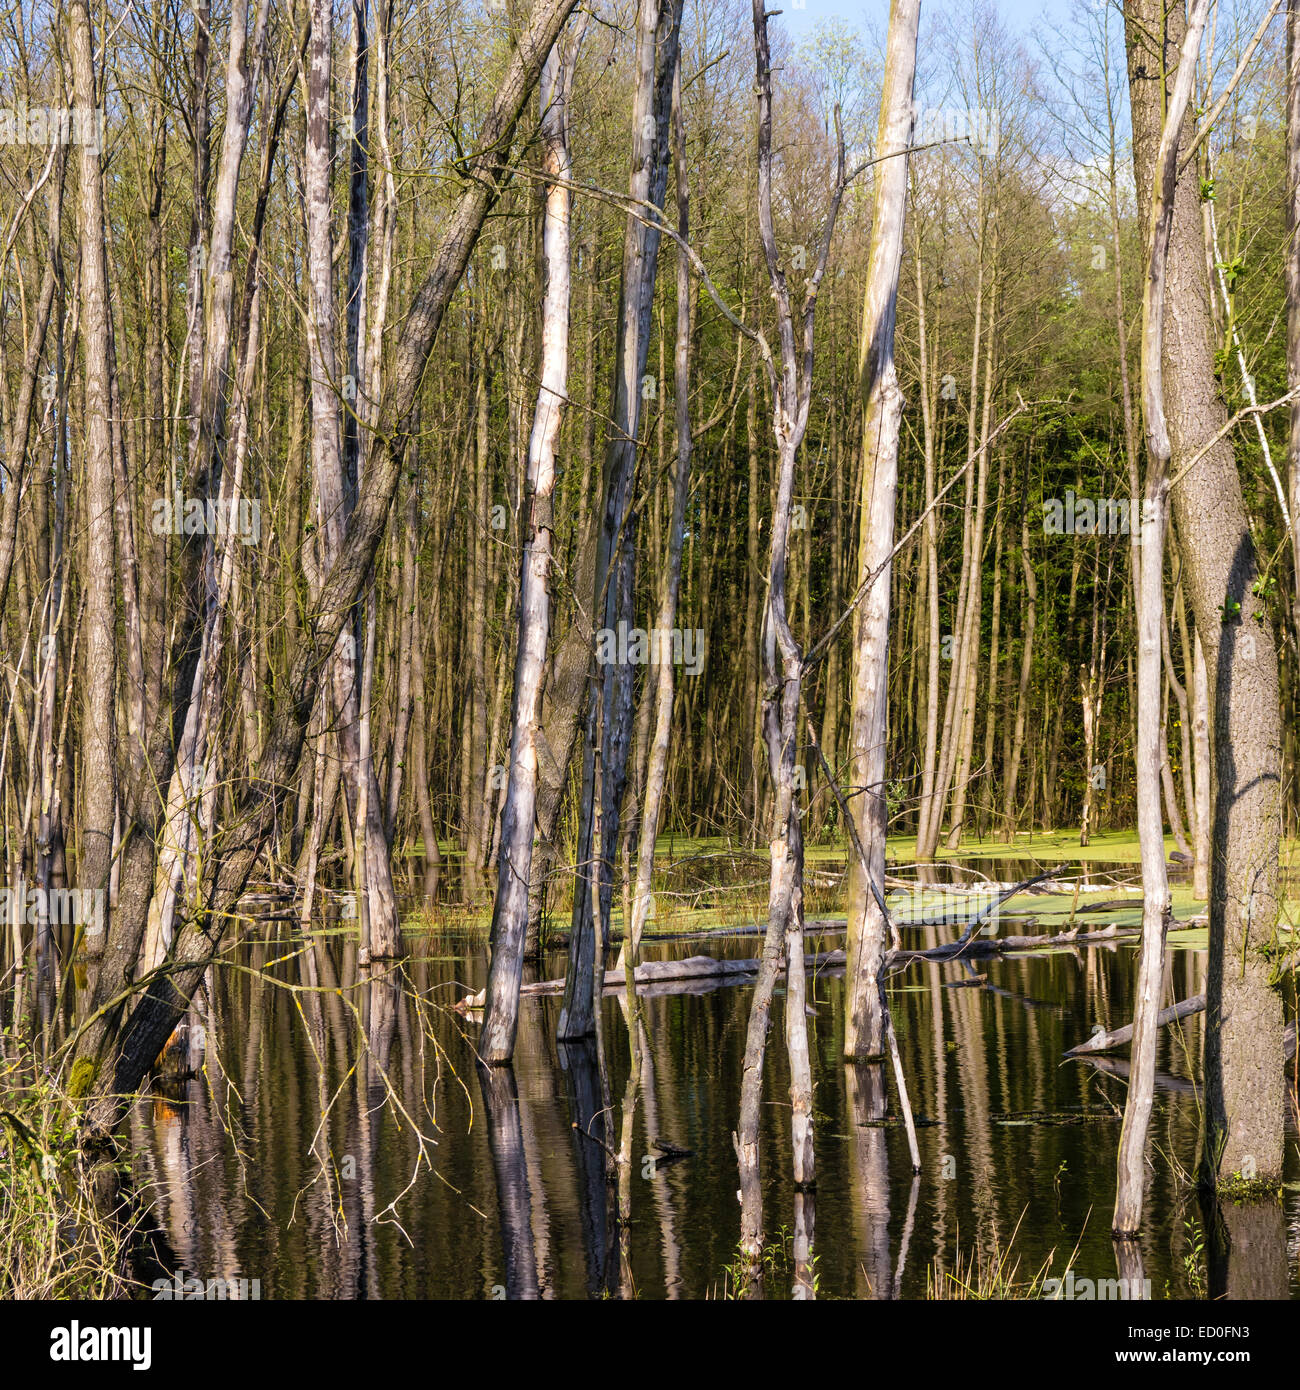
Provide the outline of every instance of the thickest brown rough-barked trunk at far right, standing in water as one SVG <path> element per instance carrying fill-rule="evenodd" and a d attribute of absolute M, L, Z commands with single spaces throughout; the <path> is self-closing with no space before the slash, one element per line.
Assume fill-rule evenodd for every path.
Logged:
<path fill-rule="evenodd" d="M 1157 179 L 1164 106 L 1160 74 L 1185 19 L 1160 0 L 1129 0 L 1129 83 L 1140 196 Z M 1164 26 L 1162 26 L 1164 21 Z M 1162 46 L 1161 46 L 1162 43 Z M 1178 81 L 1182 81 L 1179 70 Z M 1190 79 L 1189 79 L 1190 81 Z M 1179 129 L 1190 136 L 1190 122 Z M 1179 181 L 1169 235 L 1164 388 L 1173 520 L 1210 684 L 1214 859 L 1205 1038 L 1210 1183 L 1232 1175 L 1272 1186 L 1282 1170 L 1282 1001 L 1271 984 L 1278 915 L 1281 705 L 1272 630 L 1257 592 L 1226 410 L 1214 381 L 1204 227 L 1196 179 Z"/>

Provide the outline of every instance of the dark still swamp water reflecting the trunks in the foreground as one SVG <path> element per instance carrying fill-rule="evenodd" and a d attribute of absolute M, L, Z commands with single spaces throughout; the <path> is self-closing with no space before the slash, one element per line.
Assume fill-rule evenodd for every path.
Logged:
<path fill-rule="evenodd" d="M 913 929 L 907 944 L 951 940 L 952 930 Z M 605 1155 L 576 1129 L 601 1133 L 595 1051 L 556 1044 L 559 999 L 524 999 L 514 1068 L 484 1080 L 477 1024 L 449 1009 L 485 981 L 481 935 L 412 935 L 399 969 L 359 979 L 352 937 L 304 942 L 284 924 L 267 933 L 232 958 L 252 970 L 228 965 L 213 977 L 206 1072 L 160 1083 L 131 1118 L 135 1177 L 153 1201 L 164 1268 L 259 1279 L 263 1298 L 584 1298 L 617 1283 Z M 809 949 L 843 940 L 812 938 Z M 747 956 L 759 941 L 655 948 L 669 949 Z M 1167 997 L 1203 990 L 1204 951 L 1169 955 Z M 560 955 L 549 965 L 548 974 L 562 973 Z M 880 1069 L 841 1061 L 843 980 L 809 981 L 820 1297 L 925 1297 L 936 1270 L 972 1257 L 996 1264 L 1008 1251 L 1022 1279 L 1048 1259 L 1058 1277 L 1068 1265 L 1076 1279 L 1115 1277 L 1110 1216 L 1125 1097 L 1115 1073 L 1125 1063 L 1061 1054 L 1097 1022 L 1129 1020 L 1135 966 L 1133 947 L 1119 944 L 977 966 L 926 962 L 897 976 L 890 1005 L 922 1122 L 915 1180 L 893 1081 L 881 1093 Z M 723 1297 L 730 1287 L 740 1229 L 731 1131 L 749 999 L 748 987 L 726 987 L 644 1001 L 649 1065 L 630 1229 L 638 1297 Z M 783 1002 L 762 1120 L 773 1295 L 788 1293 L 794 1202 Z M 619 998 L 606 998 L 603 1026 L 616 1145 L 627 1076 Z M 1196 1162 L 1190 1077 L 1201 1033 L 1196 1017 L 1160 1038 L 1141 1240 L 1155 1298 L 1205 1287 L 1193 1250 L 1200 1205 L 1175 1176 Z M 690 1156 L 656 1169 L 653 1138 Z M 1279 1257 L 1286 1247 L 1294 1295 L 1293 1129 L 1287 1154 L 1290 1183 L 1268 1238 Z"/>

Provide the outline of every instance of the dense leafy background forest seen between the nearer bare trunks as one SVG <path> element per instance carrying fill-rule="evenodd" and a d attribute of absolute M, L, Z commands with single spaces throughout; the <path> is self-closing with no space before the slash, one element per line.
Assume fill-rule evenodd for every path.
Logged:
<path fill-rule="evenodd" d="M 203 74 L 211 128 L 203 142 L 195 129 L 196 21 L 189 7 L 153 4 L 117 18 L 106 14 L 113 43 L 101 56 L 100 74 L 114 445 L 125 478 L 118 505 L 132 513 L 142 656 L 156 673 L 164 660 L 184 539 L 195 318 L 189 282 L 203 274 L 196 228 L 202 229 L 204 200 L 211 197 L 213 150 L 225 104 L 224 65 L 216 56 L 228 46 L 229 15 L 220 7 L 202 13 L 211 26 L 210 71 Z M 44 4 L 8 10 L 3 99 L 14 113 L 70 104 L 64 97 L 71 71 L 54 19 Z M 578 582 L 590 539 L 584 524 L 598 503 L 623 236 L 621 217 L 599 190 L 619 189 L 624 181 L 631 19 L 630 7 L 615 6 L 591 26 L 569 117 L 578 190 L 571 232 L 571 407 L 563 423 L 555 505 L 552 657 L 569 628 L 585 623 L 590 630 L 587 606 L 576 595 L 587 589 Z M 353 65 L 356 56 L 346 15 L 341 21 L 338 61 L 346 68 L 349 51 Z M 505 4 L 485 11 L 469 4 L 381 7 L 385 113 L 382 129 L 370 114 L 367 154 L 373 197 L 387 221 L 381 235 L 370 238 L 368 253 L 371 274 L 381 272 L 381 263 L 382 274 L 391 274 L 388 336 L 402 322 L 417 267 L 456 192 L 455 161 L 471 140 L 510 26 Z M 945 838 L 955 838 L 955 827 L 1012 837 L 1027 827 L 1133 824 L 1132 571 L 1125 535 L 1089 535 L 1083 506 L 1084 499 L 1101 500 L 1104 530 L 1105 505 L 1137 493 L 1130 481 L 1135 407 L 1121 364 L 1128 354 L 1132 377 L 1141 220 L 1128 150 L 1119 26 L 1110 7 L 1080 11 L 1068 33 L 1033 38 L 1008 32 L 990 4 L 945 7 L 943 15 L 923 17 L 916 142 L 934 143 L 909 170 L 898 327 L 907 409 L 897 534 L 909 534 L 973 442 L 994 432 L 996 439 L 982 467 L 968 468 L 930 521 L 911 531 L 893 569 L 893 833 L 916 833 L 927 792 L 940 798 L 947 792 Z M 754 215 L 748 28 L 741 4 L 687 6 L 683 101 L 692 242 L 740 317 L 762 324 L 769 295 Z M 798 46 L 773 32 L 777 231 L 783 252 L 798 267 L 815 250 L 824 214 L 836 103 L 844 111 L 851 152 L 870 154 L 880 44 L 840 21 L 823 24 Z M 1201 197 L 1215 247 L 1219 379 L 1232 407 L 1274 400 L 1286 389 L 1281 32 L 1274 26 L 1260 46 L 1203 161 Z M 1235 7 L 1219 7 L 1214 72 L 1235 67 L 1246 38 Z M 247 165 L 271 163 L 264 179 L 247 178 L 239 188 L 232 250 L 235 274 L 245 282 L 245 311 L 256 278 L 261 324 L 247 363 L 243 496 L 253 512 L 249 516 L 245 507 L 242 538 L 250 543 L 232 552 L 238 637 L 227 659 L 239 699 L 221 714 L 216 760 L 222 780 L 238 780 L 241 769 L 257 764 L 284 698 L 302 639 L 310 591 L 304 549 L 314 532 L 304 107 L 300 71 L 296 81 L 286 81 L 300 49 L 288 14 L 271 17 L 266 44 L 260 83 L 273 110 L 277 96 L 282 99 L 274 111 L 279 128 L 273 129 L 260 110 L 249 131 Z M 331 120 L 334 200 L 342 213 L 349 188 L 346 72 L 336 83 Z M 86 669 L 88 645 L 78 642 L 83 612 L 78 559 L 88 499 L 78 425 L 83 386 L 72 370 L 81 350 L 78 260 L 68 240 L 68 199 L 53 225 L 49 214 L 65 172 L 61 154 L 53 170 L 47 167 L 51 149 L 15 142 L 0 150 L 8 203 L 0 409 L 10 503 L 17 489 L 25 489 L 28 503 L 7 518 L 15 534 L 4 573 L 3 781 L 7 824 L 17 827 L 26 813 L 31 833 L 32 787 L 39 785 L 32 731 L 43 678 L 57 670 L 56 840 L 71 841 L 75 858 L 79 764 L 71 752 L 79 746 L 83 712 L 67 694 L 101 673 Z M 494 858 L 507 762 L 520 498 L 539 338 L 535 153 L 534 143 L 530 160 L 526 147 L 448 310 L 439 350 L 419 392 L 413 446 L 393 502 L 396 524 L 380 549 L 371 599 L 377 639 L 370 738 L 387 830 L 398 852 L 420 845 L 430 830 L 444 849 L 463 849 L 470 895 Z M 263 224 L 256 267 L 247 256 L 254 217 Z M 858 334 L 869 231 L 863 178 L 850 188 L 836 229 L 816 325 L 818 384 L 798 457 L 790 612 L 805 649 L 830 628 L 854 588 L 851 556 L 861 524 Z M 336 235 L 342 238 L 342 225 Z M 343 253 L 339 240 L 335 260 Z M 24 471 L 15 464 L 22 452 L 14 438 L 17 398 L 40 313 L 42 278 L 51 270 L 56 313 L 39 354 Z M 653 626 L 672 502 L 674 295 L 673 277 L 660 275 L 642 382 L 635 612 L 645 628 Z M 766 834 L 763 803 L 770 795 L 758 728 L 758 644 L 773 500 L 772 441 L 765 428 L 772 402 L 754 354 L 698 282 L 690 313 L 688 406 L 695 441 L 679 616 L 684 631 L 702 634 L 704 655 L 679 680 L 663 828 L 752 841 Z M 381 357 L 384 352 L 381 345 Z M 348 373 L 338 375 L 346 403 L 355 399 L 355 382 Z M 1026 409 L 1000 430 L 1018 400 Z M 1283 805 L 1293 831 L 1296 644 L 1286 595 L 1294 592 L 1294 562 L 1276 463 L 1285 459 L 1285 411 L 1260 417 L 1258 427 L 1243 420 L 1235 445 L 1264 557 L 1269 620 L 1283 653 L 1289 716 Z M 160 499 L 175 503 L 163 513 Z M 1076 525 L 1065 516 L 1075 509 Z M 1114 531 L 1118 513 L 1114 506 L 1110 513 Z M 247 530 L 253 521 L 256 535 Z M 1197 680 L 1176 537 L 1169 550 L 1167 815 L 1175 834 L 1190 840 L 1204 678 Z M 973 605 L 964 602 L 968 585 Z M 958 630 L 959 619 L 970 624 L 969 635 Z M 42 634 L 57 653 L 49 641 L 42 648 Z M 850 642 L 845 626 L 808 689 L 831 766 L 840 764 L 844 751 Z M 640 674 L 634 792 L 645 778 L 658 669 L 647 664 Z M 558 716 L 556 726 L 563 723 Z M 563 756 L 571 731 L 552 733 L 551 770 L 576 777 L 576 763 Z M 317 727 L 278 827 L 279 859 L 302 858 L 304 828 L 314 821 L 324 827 L 324 845 L 348 838 L 338 823 L 338 780 Z M 941 790 L 934 790 L 936 781 Z M 812 758 L 806 795 L 809 838 L 834 835 L 838 812 Z M 571 816 L 558 821 L 560 860 L 573 862 L 574 834 Z M 11 855 L 19 845 L 21 837 Z M 437 853 L 427 847 L 431 860 Z"/>

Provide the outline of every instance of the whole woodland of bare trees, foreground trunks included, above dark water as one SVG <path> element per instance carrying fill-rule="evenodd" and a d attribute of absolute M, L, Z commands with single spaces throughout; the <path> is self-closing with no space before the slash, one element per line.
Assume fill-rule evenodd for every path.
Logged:
<path fill-rule="evenodd" d="M 1073 952 L 1097 888 L 1080 862 L 1059 934 L 984 940 L 1069 866 L 936 860 L 1055 831 L 1132 862 L 1136 831 L 1133 1026 L 1097 1048 L 1132 1040 L 1116 1261 L 1140 1277 L 1171 1022 L 1205 1015 L 1203 1184 L 1278 1195 L 1300 0 L 1029 33 L 879 8 L 795 42 L 763 0 L 0 0 L 0 1052 L 29 1130 L 111 1152 L 160 1066 L 202 1073 L 263 927 L 307 995 L 339 937 L 382 1072 L 409 938 L 455 919 L 467 979 L 403 998 L 482 1063 L 503 1209 L 520 999 L 563 988 L 626 1244 L 652 890 L 734 892 L 761 954 L 673 980 L 752 977 L 751 1273 L 783 995 L 811 1295 L 808 980 L 844 970 L 847 1094 L 883 1122 L 890 1066 L 919 1175 L 887 981 Z M 936 885 L 961 912 L 884 898 Z M 809 931 L 845 949 L 805 960 L 823 890 L 845 919 Z M 1161 1012 L 1167 933 L 1203 926 Z M 564 980 L 526 990 L 556 929 Z"/>

